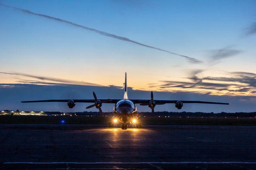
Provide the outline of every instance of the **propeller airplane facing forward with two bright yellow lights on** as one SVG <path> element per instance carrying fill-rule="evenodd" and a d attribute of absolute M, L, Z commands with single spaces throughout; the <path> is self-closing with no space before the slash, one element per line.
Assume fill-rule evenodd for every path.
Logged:
<path fill-rule="evenodd" d="M 86 109 L 96 107 L 99 109 L 101 115 L 103 115 L 101 106 L 102 103 L 113 103 L 113 122 L 121 123 L 122 129 L 127 129 L 128 125 L 134 123 L 137 128 L 140 128 L 140 122 L 138 122 L 137 107 L 136 104 L 141 106 L 148 106 L 152 111 L 152 116 L 154 116 L 154 108 L 156 105 L 164 105 L 166 103 L 174 103 L 177 109 L 182 109 L 184 103 L 204 103 L 204 104 L 220 104 L 229 105 L 230 103 L 219 103 L 210 101 L 192 101 L 192 100 L 161 100 L 154 99 L 153 91 L 151 91 L 151 99 L 128 99 L 127 95 L 127 74 L 125 73 L 125 83 L 124 83 L 124 97 L 123 99 L 98 99 L 96 94 L 93 92 L 94 99 L 50 99 L 50 100 L 36 100 L 36 101 L 21 101 L 22 103 L 32 103 L 32 102 L 67 102 L 69 108 L 73 108 L 76 103 L 94 103 L 86 107 Z M 112 127 L 112 123 L 109 125 Z"/>

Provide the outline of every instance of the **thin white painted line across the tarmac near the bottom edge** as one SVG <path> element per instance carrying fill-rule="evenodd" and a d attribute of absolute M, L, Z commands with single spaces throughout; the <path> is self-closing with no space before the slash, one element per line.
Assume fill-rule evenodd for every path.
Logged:
<path fill-rule="evenodd" d="M 256 164 L 256 162 L 4 162 L 4 164 Z"/>

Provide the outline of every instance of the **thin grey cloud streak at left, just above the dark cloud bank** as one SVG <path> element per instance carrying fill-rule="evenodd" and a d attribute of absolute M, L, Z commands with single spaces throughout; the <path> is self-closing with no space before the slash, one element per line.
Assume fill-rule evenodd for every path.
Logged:
<path fill-rule="evenodd" d="M 0 72 L 0 74 L 20 75 L 20 76 L 24 76 L 24 77 L 39 79 L 39 80 L 42 80 L 42 81 L 54 81 L 54 82 L 67 83 L 67 84 L 102 86 L 102 85 L 95 84 L 95 83 L 87 83 L 87 82 L 83 82 L 83 81 L 73 81 L 73 80 L 67 80 L 67 79 L 58 79 L 58 78 L 53 78 L 53 77 L 43 77 L 43 76 L 36 76 L 36 75 L 30 75 L 30 74 L 24 74 L 24 73 Z M 24 81 L 24 83 L 25 82 L 26 81 Z M 38 82 L 38 83 L 40 83 L 40 82 Z M 41 83 L 47 83 L 47 82 L 41 82 Z"/>

